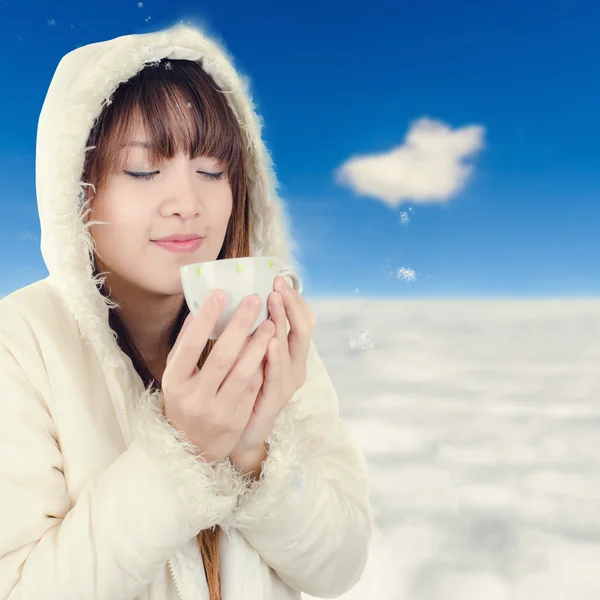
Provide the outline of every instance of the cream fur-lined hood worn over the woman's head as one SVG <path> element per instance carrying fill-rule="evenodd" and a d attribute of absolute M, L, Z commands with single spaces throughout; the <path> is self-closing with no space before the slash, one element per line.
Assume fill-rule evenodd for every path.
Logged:
<path fill-rule="evenodd" d="M 111 348 L 113 360 L 118 355 L 108 328 L 108 308 L 115 305 L 99 292 L 102 278 L 92 274 L 93 240 L 85 219 L 89 206 L 83 201 L 86 182 L 81 181 L 85 144 L 117 86 L 144 65 L 163 58 L 198 61 L 226 93 L 246 143 L 250 254 L 274 255 L 281 268 L 300 270 L 292 258 L 295 243 L 284 203 L 277 195 L 273 163 L 261 139 L 262 120 L 256 113 L 248 78 L 236 72 L 232 57 L 220 43 L 198 29 L 176 25 L 75 49 L 56 69 L 38 124 L 36 191 L 41 251 L 49 281 L 83 335 Z"/>

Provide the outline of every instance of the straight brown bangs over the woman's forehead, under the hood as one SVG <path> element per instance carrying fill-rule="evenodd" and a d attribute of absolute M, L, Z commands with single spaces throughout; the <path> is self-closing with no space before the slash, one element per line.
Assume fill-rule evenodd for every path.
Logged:
<path fill-rule="evenodd" d="M 153 166 L 185 153 L 190 159 L 214 158 L 226 173 L 243 169 L 239 125 L 214 80 L 193 61 L 163 59 L 144 67 L 117 87 L 94 130 L 97 171 L 89 173 L 101 187 L 109 172 L 122 168 L 139 126 L 150 144 Z M 94 177 L 95 175 L 95 177 Z"/>

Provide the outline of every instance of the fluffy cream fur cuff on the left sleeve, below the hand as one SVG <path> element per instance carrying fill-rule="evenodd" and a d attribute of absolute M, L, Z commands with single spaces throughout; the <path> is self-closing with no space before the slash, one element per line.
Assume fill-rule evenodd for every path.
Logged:
<path fill-rule="evenodd" d="M 141 445 L 177 490 L 193 531 L 209 529 L 226 519 L 245 481 L 228 458 L 208 465 L 185 435 L 164 416 L 161 392 L 149 389 L 135 402 L 133 443 Z"/>

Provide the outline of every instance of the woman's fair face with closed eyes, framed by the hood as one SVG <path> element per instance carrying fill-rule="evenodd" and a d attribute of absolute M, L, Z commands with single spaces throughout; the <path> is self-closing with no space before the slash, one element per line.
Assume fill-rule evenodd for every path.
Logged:
<path fill-rule="evenodd" d="M 183 293 L 182 265 L 216 260 L 227 231 L 233 197 L 224 165 L 215 159 L 191 160 L 179 154 L 152 165 L 139 142 L 138 130 L 124 149 L 122 169 L 110 173 L 94 198 L 91 219 L 107 224 L 90 226 L 101 271 L 124 295 L 129 286 L 158 295 Z M 139 174 L 149 174 L 145 178 Z M 175 234 L 196 234 L 204 239 L 193 252 L 179 254 L 156 244 Z M 118 282 L 118 283 L 117 283 Z"/>

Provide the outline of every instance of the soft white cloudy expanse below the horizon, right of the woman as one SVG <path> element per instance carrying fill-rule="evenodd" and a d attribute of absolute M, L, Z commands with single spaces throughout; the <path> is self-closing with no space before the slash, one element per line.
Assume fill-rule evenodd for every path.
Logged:
<path fill-rule="evenodd" d="M 597 300 L 310 306 L 374 515 L 339 600 L 600 598 Z"/>

